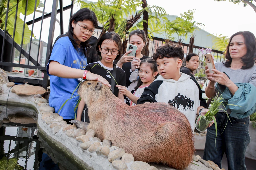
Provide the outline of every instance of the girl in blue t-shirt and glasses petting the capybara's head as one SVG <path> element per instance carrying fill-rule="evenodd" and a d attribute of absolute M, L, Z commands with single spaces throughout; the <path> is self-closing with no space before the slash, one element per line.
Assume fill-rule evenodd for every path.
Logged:
<path fill-rule="evenodd" d="M 98 27 L 95 13 L 87 8 L 80 9 L 72 15 L 69 21 L 68 36 L 59 38 L 52 49 L 47 74 L 50 76 L 51 93 L 49 105 L 58 113 L 62 104 L 71 97 L 74 89 L 79 84 L 78 78 L 97 80 L 104 85 L 110 84 L 102 76 L 84 71 L 87 65 L 87 47 L 89 41 Z M 89 48 L 88 48 L 89 49 Z M 89 56 L 88 56 L 89 57 Z M 73 96 L 76 96 L 77 90 Z M 79 96 L 70 99 L 59 111 L 59 115 L 69 123 L 74 119 L 74 104 Z"/>

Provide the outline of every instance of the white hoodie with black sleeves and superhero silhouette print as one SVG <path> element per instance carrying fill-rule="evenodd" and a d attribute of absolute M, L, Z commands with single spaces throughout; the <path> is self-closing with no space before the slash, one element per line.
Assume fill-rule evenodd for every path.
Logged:
<path fill-rule="evenodd" d="M 161 75 L 145 88 L 137 104 L 145 102 L 164 102 L 182 112 L 188 119 L 194 132 L 197 108 L 202 98 L 202 90 L 195 79 L 187 74 L 180 73 L 178 81 L 164 79 Z M 205 102 L 206 104 L 206 102 Z"/>

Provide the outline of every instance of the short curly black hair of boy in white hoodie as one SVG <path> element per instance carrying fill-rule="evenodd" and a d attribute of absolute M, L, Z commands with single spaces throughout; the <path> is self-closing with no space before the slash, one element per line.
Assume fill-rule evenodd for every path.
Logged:
<path fill-rule="evenodd" d="M 153 59 L 156 61 L 158 58 L 163 59 L 164 57 L 172 58 L 177 57 L 183 61 L 184 51 L 182 46 L 176 43 L 169 43 L 165 46 L 158 47 L 156 52 L 152 55 Z"/>

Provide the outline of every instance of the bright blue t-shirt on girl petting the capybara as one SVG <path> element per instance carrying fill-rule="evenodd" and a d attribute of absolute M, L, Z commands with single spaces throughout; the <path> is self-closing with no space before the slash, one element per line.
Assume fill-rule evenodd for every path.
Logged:
<path fill-rule="evenodd" d="M 80 49 L 80 51 L 77 51 L 69 40 L 69 37 L 61 37 L 57 40 L 52 49 L 49 63 L 50 61 L 57 61 L 64 66 L 81 70 L 84 70 L 87 65 L 83 50 Z M 50 76 L 51 87 L 49 105 L 55 109 L 56 113 L 58 113 L 62 104 L 71 97 L 80 81 L 77 79 L 66 79 L 50 75 L 49 63 L 47 64 L 47 74 Z M 63 70 L 63 72 L 65 73 L 65 70 Z M 78 89 L 74 92 L 72 97 L 78 95 L 77 91 Z M 63 119 L 74 119 L 74 104 L 78 99 L 79 96 L 66 102 L 65 106 L 59 112 L 59 115 L 62 116 Z"/>

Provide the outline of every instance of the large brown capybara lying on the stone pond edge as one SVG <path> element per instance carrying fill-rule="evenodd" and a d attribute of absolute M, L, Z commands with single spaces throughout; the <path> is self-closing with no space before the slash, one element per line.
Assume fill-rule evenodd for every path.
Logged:
<path fill-rule="evenodd" d="M 185 169 L 193 162 L 194 134 L 186 116 L 165 103 L 128 106 L 97 81 L 81 83 L 78 94 L 88 106 L 90 123 L 71 120 L 79 128 L 131 153 L 135 161 Z"/>

